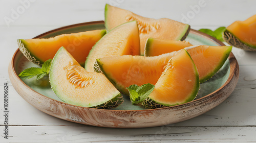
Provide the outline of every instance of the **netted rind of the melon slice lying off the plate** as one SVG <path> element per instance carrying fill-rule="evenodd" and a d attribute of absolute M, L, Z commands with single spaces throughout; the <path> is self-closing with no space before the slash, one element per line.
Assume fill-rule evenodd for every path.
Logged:
<path fill-rule="evenodd" d="M 227 29 L 223 32 L 223 39 L 230 45 L 236 46 L 245 51 L 256 51 L 256 46 L 248 44 L 242 40 L 240 40 L 237 36 L 232 34 Z"/>

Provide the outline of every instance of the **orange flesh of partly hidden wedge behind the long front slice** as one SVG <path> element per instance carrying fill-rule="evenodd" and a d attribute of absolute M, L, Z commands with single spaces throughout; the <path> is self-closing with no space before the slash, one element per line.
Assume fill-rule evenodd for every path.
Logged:
<path fill-rule="evenodd" d="M 187 41 L 148 38 L 146 41 L 144 56 L 158 56 L 173 51 L 179 51 L 188 46 L 192 46 L 192 44 Z"/>

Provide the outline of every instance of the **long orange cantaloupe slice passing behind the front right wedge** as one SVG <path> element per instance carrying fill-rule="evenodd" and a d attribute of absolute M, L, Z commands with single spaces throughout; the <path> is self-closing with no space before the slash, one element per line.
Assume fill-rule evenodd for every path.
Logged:
<path fill-rule="evenodd" d="M 197 45 L 186 47 L 197 66 L 200 82 L 214 76 L 231 52 L 232 46 Z M 95 62 L 95 71 L 102 72 L 122 93 L 129 94 L 126 87 L 146 83 L 156 84 L 167 62 L 177 51 L 159 56 L 117 56 L 100 58 Z M 200 75 L 201 72 L 201 75 Z"/>

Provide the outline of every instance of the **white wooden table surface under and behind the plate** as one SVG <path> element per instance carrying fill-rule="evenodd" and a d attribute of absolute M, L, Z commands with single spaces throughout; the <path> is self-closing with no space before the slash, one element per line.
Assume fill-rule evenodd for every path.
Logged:
<path fill-rule="evenodd" d="M 256 14 L 256 1 L 249 0 L 0 0 L 0 142 L 256 141 L 256 53 L 236 47 L 232 52 L 239 62 L 240 77 L 230 97 L 207 113 L 177 124 L 141 129 L 86 126 L 45 114 L 23 100 L 12 87 L 7 70 L 17 50 L 16 40 L 75 23 L 103 20 L 105 3 L 146 17 L 187 22 L 196 30 L 215 30 Z M 9 84 L 8 139 L 4 138 L 4 83 Z"/>

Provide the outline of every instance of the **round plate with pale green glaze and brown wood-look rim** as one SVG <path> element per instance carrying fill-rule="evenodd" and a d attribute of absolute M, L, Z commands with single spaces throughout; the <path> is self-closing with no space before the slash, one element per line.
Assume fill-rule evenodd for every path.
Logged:
<path fill-rule="evenodd" d="M 67 27 L 63 27 L 63 28 L 59 28 L 59 29 L 56 29 L 56 30 L 46 32 L 46 33 L 41 34 L 41 35 L 39 35 L 35 38 L 49 38 L 49 37 L 54 37 L 54 36 L 57 36 L 57 35 L 60 35 L 60 34 L 65 34 L 65 33 L 76 33 L 76 32 L 96 30 L 96 29 L 104 29 L 104 22 L 103 21 L 95 21 L 95 22 L 79 23 L 77 25 L 67 26 Z M 217 39 L 215 39 L 213 37 L 210 37 L 206 34 L 203 34 L 201 32 L 195 31 L 195 30 L 191 30 L 185 40 L 189 41 L 193 45 L 200 45 L 200 44 L 213 45 L 213 46 L 224 45 L 222 42 L 218 41 Z M 184 120 L 187 120 L 188 118 L 200 115 L 200 114 L 214 108 L 215 106 L 219 105 L 221 102 L 223 102 L 229 96 L 229 94 L 233 91 L 234 87 L 237 84 L 238 73 L 239 73 L 237 60 L 236 60 L 236 58 L 234 58 L 233 54 L 231 53 L 230 56 L 229 56 L 229 59 L 225 62 L 225 64 L 221 68 L 221 70 L 214 77 L 212 77 L 210 80 L 206 81 L 203 84 L 200 84 L 199 94 L 198 94 L 197 98 L 192 102 L 182 104 L 182 105 L 173 106 L 173 107 L 166 107 L 166 108 L 162 108 L 162 109 L 146 109 L 144 107 L 132 105 L 131 102 L 130 102 L 129 97 L 123 96 L 125 101 L 120 106 L 118 106 L 117 108 L 111 109 L 111 110 L 102 110 L 102 109 L 92 109 L 92 108 L 78 107 L 78 106 L 73 106 L 73 105 L 70 105 L 70 104 L 65 104 L 65 102 L 61 101 L 55 95 L 55 93 L 53 92 L 53 90 L 51 89 L 50 83 L 49 83 L 49 79 L 47 77 L 44 78 L 44 79 L 41 79 L 41 80 L 36 80 L 35 78 L 27 79 L 27 80 L 20 80 L 17 77 L 17 75 L 22 70 L 24 70 L 26 68 L 29 68 L 29 67 L 39 67 L 39 66 L 37 66 L 34 63 L 28 61 L 23 56 L 23 54 L 21 54 L 19 51 L 17 51 L 14 54 L 13 60 L 10 63 L 10 66 L 9 66 L 9 75 L 10 75 L 10 79 L 12 81 L 12 84 L 13 84 L 14 88 L 16 87 L 15 89 L 20 94 L 20 96 L 22 96 L 30 104 L 32 104 L 36 108 L 38 108 L 38 109 L 40 109 L 40 110 L 42 110 L 42 111 L 44 111 L 44 112 L 46 112 L 50 115 L 62 118 L 64 120 L 77 122 L 77 123 L 81 123 L 81 124 L 93 125 L 93 126 L 118 127 L 118 128 L 119 127 L 120 128 L 126 128 L 126 127 L 127 128 L 137 128 L 137 127 L 159 126 L 159 125 L 184 121 Z M 31 92 L 37 94 L 37 97 L 36 98 L 33 97 L 32 99 L 31 99 L 31 97 L 26 97 L 25 93 L 27 93 L 27 92 L 26 91 L 19 91 L 20 90 L 18 88 L 19 86 L 15 85 L 15 84 L 18 84 L 18 83 L 15 83 L 14 82 L 15 80 L 22 83 L 22 84 L 25 83 L 24 86 L 27 87 L 28 90 L 31 90 Z M 232 83 L 230 83 L 230 81 L 232 81 Z M 227 87 L 227 86 L 229 86 L 229 87 Z M 224 91 L 224 87 L 228 88 L 226 90 L 229 90 L 229 91 Z M 219 94 L 217 95 L 217 93 L 219 93 Z M 220 93 L 221 94 L 224 93 L 225 95 L 220 95 Z M 215 94 L 216 94 L 216 96 L 215 96 Z M 217 99 L 218 96 L 221 96 L 221 98 L 219 98 L 220 100 Z M 38 98 L 40 98 L 40 97 L 44 98 L 44 99 L 47 99 L 48 102 L 54 102 L 54 104 L 57 103 L 57 104 L 65 105 L 65 106 L 68 106 L 68 107 L 72 106 L 72 110 L 76 110 L 76 108 L 77 108 L 77 110 L 78 109 L 79 110 L 80 109 L 86 109 L 86 110 L 93 110 L 93 111 L 96 110 L 96 111 L 102 111 L 102 112 L 116 110 L 117 112 L 122 112 L 122 113 L 125 112 L 125 113 L 129 113 L 129 114 L 130 114 L 130 112 L 141 113 L 142 116 L 144 116 L 143 115 L 144 111 L 152 112 L 152 111 L 156 110 L 158 112 L 160 110 L 166 110 L 166 109 L 170 109 L 169 111 L 171 111 L 171 110 L 177 111 L 177 110 L 180 110 L 181 108 L 184 109 L 185 107 L 187 109 L 191 108 L 189 110 L 194 110 L 193 108 L 196 109 L 199 106 L 205 107 L 205 109 L 198 110 L 197 114 L 187 114 L 187 115 L 185 114 L 180 119 L 175 119 L 174 121 L 168 120 L 168 122 L 166 122 L 166 123 L 161 122 L 161 123 L 156 123 L 156 124 L 151 124 L 151 125 L 146 125 L 145 124 L 143 126 L 142 125 L 138 126 L 138 125 L 135 125 L 133 123 L 128 124 L 128 123 L 126 123 L 128 121 L 126 121 L 125 125 L 119 125 L 119 124 L 117 126 L 115 126 L 115 124 L 114 125 L 109 125 L 109 124 L 106 124 L 106 125 L 102 124 L 101 125 L 100 123 L 94 125 L 92 123 L 89 123 L 87 121 L 87 118 L 85 118 L 81 121 L 72 120 L 72 119 L 68 118 L 67 115 L 63 115 L 63 116 L 56 115 L 56 113 L 53 113 L 51 109 L 49 109 L 50 110 L 49 111 L 47 109 L 47 107 L 43 107 L 42 105 L 37 106 L 37 104 L 35 104 L 36 102 L 33 101 L 33 100 L 38 100 Z M 210 101 L 214 102 L 214 103 L 209 103 L 209 107 L 207 107 L 207 103 L 204 103 L 204 102 L 210 102 Z M 38 102 L 38 103 L 41 103 L 41 101 Z M 195 107 L 192 107 L 192 106 L 195 106 Z M 51 106 L 49 106 L 49 107 L 51 107 Z M 167 112 L 168 111 L 166 111 L 166 113 Z M 180 113 L 182 114 L 182 112 L 180 112 Z M 185 113 L 185 110 L 183 111 L 183 113 Z M 176 114 L 177 113 L 175 113 L 175 115 Z M 147 120 L 149 120 L 149 119 L 147 118 Z M 123 120 L 121 122 L 122 122 L 122 124 L 124 123 Z"/>

